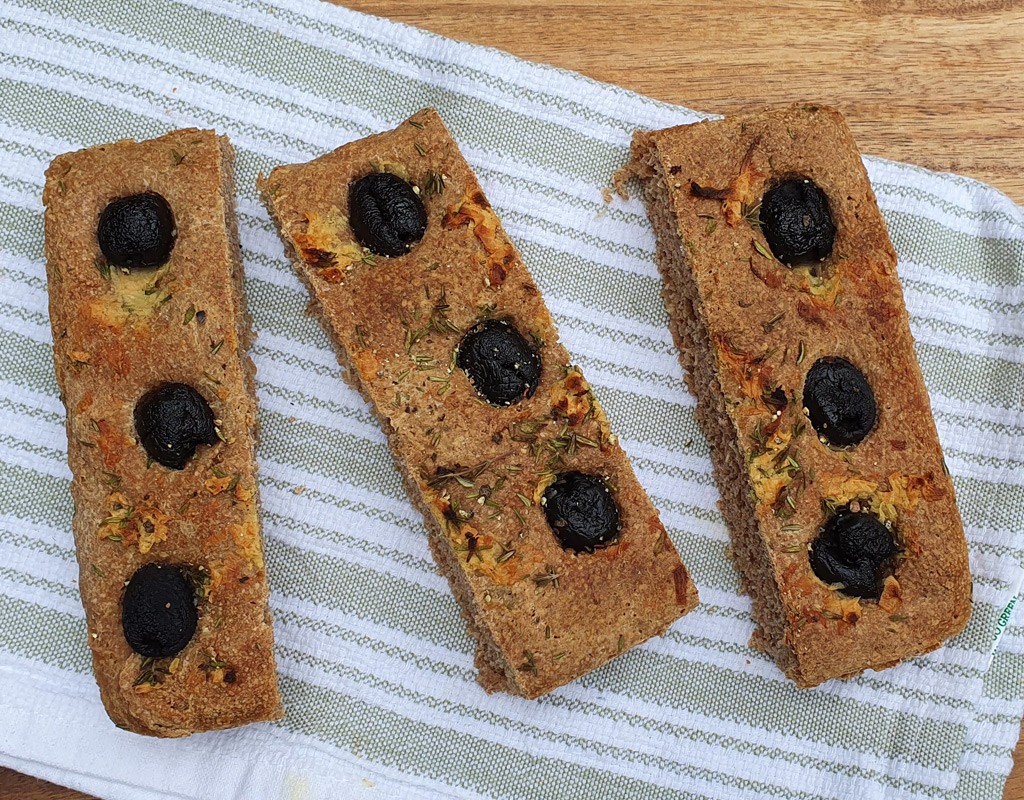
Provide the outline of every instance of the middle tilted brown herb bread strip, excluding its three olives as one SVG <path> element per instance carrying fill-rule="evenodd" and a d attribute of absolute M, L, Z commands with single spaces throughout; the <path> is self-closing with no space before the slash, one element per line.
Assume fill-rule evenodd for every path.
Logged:
<path fill-rule="evenodd" d="M 427 212 L 407 255 L 373 256 L 349 227 L 349 185 L 410 181 Z M 264 202 L 334 340 L 373 405 L 423 511 L 434 557 L 477 641 L 487 690 L 536 698 L 663 633 L 697 601 L 532 278 L 433 110 L 260 180 Z M 456 351 L 483 320 L 539 347 L 536 392 L 481 399 Z M 622 530 L 563 549 L 542 500 L 577 470 L 611 489 Z"/>

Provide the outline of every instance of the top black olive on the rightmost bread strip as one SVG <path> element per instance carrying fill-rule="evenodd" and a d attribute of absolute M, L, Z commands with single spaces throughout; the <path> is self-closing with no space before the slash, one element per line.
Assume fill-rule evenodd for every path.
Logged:
<path fill-rule="evenodd" d="M 822 261 L 836 244 L 828 198 L 806 178 L 783 180 L 768 190 L 759 217 L 772 254 L 788 266 Z"/>

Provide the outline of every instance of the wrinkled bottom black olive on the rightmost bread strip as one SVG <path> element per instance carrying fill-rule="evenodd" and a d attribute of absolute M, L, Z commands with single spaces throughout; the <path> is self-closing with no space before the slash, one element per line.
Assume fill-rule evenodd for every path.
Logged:
<path fill-rule="evenodd" d="M 899 545 L 892 531 L 866 511 L 839 509 L 811 545 L 811 569 L 849 597 L 879 599 Z"/>

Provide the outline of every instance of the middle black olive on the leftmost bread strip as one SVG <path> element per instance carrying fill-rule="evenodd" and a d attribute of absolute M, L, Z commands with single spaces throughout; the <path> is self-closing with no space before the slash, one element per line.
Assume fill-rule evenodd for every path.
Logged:
<path fill-rule="evenodd" d="M 191 386 L 162 383 L 135 405 L 135 432 L 154 461 L 184 469 L 198 445 L 216 445 L 210 406 Z"/>

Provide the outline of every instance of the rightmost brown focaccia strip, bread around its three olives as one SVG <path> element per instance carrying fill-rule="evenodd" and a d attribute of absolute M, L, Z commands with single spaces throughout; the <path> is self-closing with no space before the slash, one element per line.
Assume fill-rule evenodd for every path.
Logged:
<path fill-rule="evenodd" d="M 799 107 L 639 132 L 631 166 L 754 600 L 754 643 L 802 686 L 939 646 L 970 616 L 967 545 L 896 254 L 842 116 Z M 824 192 L 837 228 L 824 261 L 794 268 L 773 257 L 758 218 L 766 190 L 792 177 Z M 823 444 L 805 408 L 805 378 L 825 356 L 854 364 L 873 389 L 877 425 L 852 448 Z M 819 531 L 846 508 L 895 532 L 900 552 L 891 576 L 878 574 L 878 599 L 811 567 Z"/>

